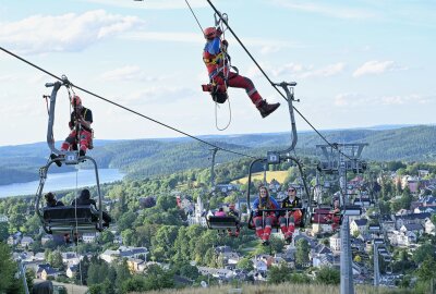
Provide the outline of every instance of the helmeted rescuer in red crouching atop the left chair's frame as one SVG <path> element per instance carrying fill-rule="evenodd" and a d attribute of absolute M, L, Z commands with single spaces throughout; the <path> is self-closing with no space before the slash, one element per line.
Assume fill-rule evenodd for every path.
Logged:
<path fill-rule="evenodd" d="M 71 147 L 74 149 L 76 147 L 76 138 L 78 137 L 80 145 L 80 156 L 85 156 L 87 149 L 92 149 L 93 130 L 90 124 L 93 123 L 93 112 L 90 109 L 82 106 L 82 99 L 78 96 L 74 96 L 71 99 L 71 106 L 73 107 L 73 112 L 71 112 L 71 118 L 69 122 L 70 135 L 62 143 L 61 151 L 66 151 Z M 78 136 L 77 136 L 78 131 Z M 51 159 L 56 159 L 55 154 L 50 155 Z M 58 167 L 62 163 L 58 160 L 55 161 Z"/>

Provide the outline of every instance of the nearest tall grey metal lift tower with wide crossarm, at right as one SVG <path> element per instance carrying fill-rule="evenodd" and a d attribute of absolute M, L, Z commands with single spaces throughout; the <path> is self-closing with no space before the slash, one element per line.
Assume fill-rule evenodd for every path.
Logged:
<path fill-rule="evenodd" d="M 340 293 L 354 294 L 352 254 L 350 243 L 350 219 L 346 207 L 349 205 L 347 194 L 347 171 L 354 173 L 363 172 L 366 162 L 360 159 L 362 150 L 368 144 L 332 144 L 316 145 L 319 148 L 324 160 L 319 162 L 318 170 L 327 174 L 339 174 L 339 185 L 341 197 L 339 199 L 343 212 L 342 224 L 340 226 L 341 255 L 340 255 Z"/>

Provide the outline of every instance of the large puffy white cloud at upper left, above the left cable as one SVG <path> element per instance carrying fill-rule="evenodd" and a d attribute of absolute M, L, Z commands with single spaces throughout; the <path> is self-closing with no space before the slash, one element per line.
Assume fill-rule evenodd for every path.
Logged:
<path fill-rule="evenodd" d="M 104 10 L 57 16 L 33 15 L 0 23 L 0 42 L 24 53 L 82 51 L 144 23 L 136 16 L 109 14 Z"/>

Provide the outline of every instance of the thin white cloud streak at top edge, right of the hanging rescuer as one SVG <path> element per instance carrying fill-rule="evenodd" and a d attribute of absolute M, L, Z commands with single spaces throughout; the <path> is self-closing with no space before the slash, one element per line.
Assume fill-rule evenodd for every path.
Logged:
<path fill-rule="evenodd" d="M 276 4 L 290 9 L 310 13 L 323 14 L 336 19 L 346 20 L 367 20 L 376 16 L 374 12 L 364 9 L 343 8 L 343 5 L 322 4 L 319 2 L 308 2 L 302 0 L 275 0 Z"/>

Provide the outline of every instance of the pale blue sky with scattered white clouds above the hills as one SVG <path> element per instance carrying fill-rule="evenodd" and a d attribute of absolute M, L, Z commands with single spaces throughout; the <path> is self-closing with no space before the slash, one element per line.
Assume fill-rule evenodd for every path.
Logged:
<path fill-rule="evenodd" d="M 206 0 L 190 0 L 203 28 Z M 296 82 L 295 108 L 317 128 L 434 124 L 436 2 L 214 0 L 274 82 Z M 201 85 L 204 37 L 184 0 L 0 0 L 0 46 L 38 66 L 192 135 L 290 131 L 286 101 L 229 30 L 232 64 L 282 106 L 262 119 L 242 89 L 216 108 Z M 44 142 L 53 77 L 0 51 L 0 146 Z M 181 136 L 80 90 L 96 139 Z M 59 91 L 55 138 L 69 132 Z M 231 121 L 230 121 L 231 120 Z M 228 124 L 225 131 L 219 131 Z M 218 127 L 217 127 L 218 125 Z M 296 115 L 299 131 L 310 130 Z"/>

